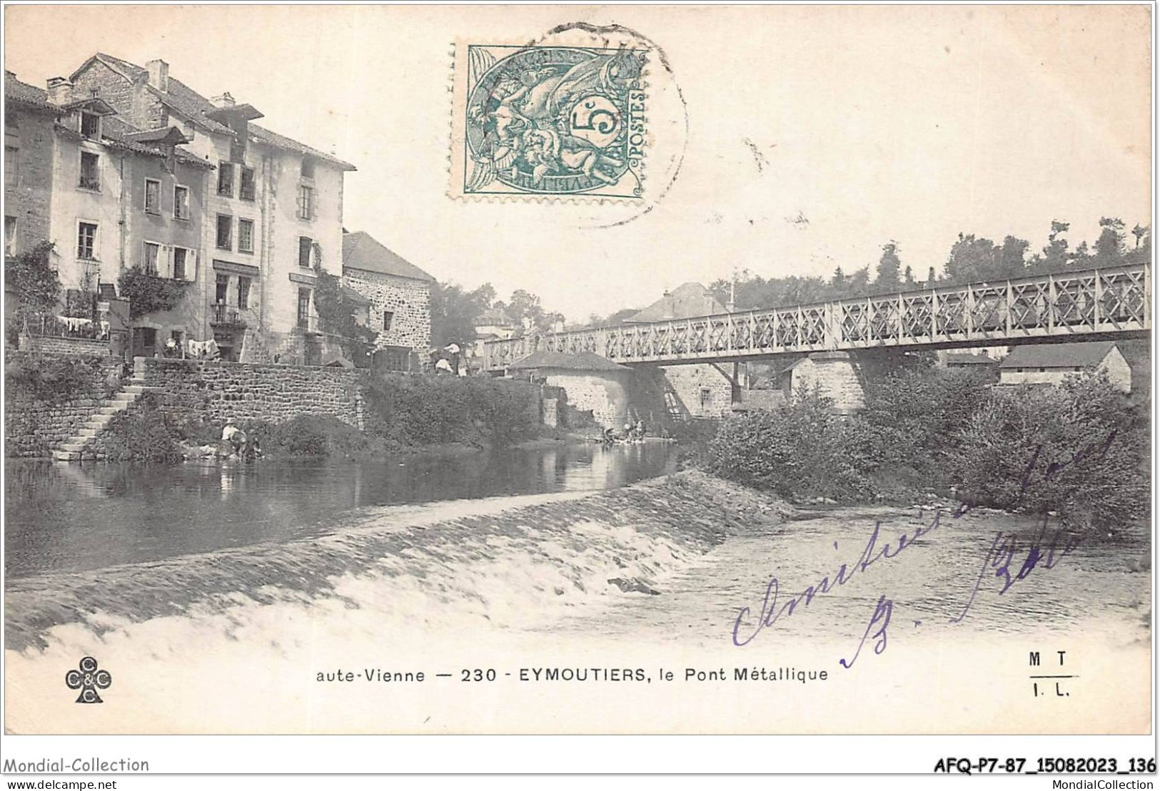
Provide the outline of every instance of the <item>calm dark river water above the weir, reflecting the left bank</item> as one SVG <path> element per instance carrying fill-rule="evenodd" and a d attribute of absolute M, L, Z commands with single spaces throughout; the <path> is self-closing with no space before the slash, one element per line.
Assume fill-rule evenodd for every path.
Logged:
<path fill-rule="evenodd" d="M 616 488 L 674 467 L 669 443 L 350 463 L 8 460 L 5 565 L 20 578 L 159 560 L 320 535 L 363 506 Z"/>

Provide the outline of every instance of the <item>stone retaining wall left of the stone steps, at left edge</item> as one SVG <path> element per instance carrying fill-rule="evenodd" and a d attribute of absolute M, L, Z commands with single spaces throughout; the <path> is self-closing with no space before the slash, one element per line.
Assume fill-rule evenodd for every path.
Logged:
<path fill-rule="evenodd" d="M 17 364 L 43 365 L 51 358 L 80 364 L 75 354 L 52 355 L 8 351 L 6 372 Z M 92 357 L 82 365 L 84 392 L 52 402 L 29 397 L 8 382 L 5 399 L 5 456 L 48 456 L 53 445 L 73 436 L 104 401 L 106 387 L 119 382 L 122 362 L 118 357 Z"/>

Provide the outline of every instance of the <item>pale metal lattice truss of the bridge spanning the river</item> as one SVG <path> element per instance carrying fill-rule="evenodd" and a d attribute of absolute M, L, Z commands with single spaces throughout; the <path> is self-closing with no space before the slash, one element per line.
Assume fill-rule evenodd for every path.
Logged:
<path fill-rule="evenodd" d="M 490 341 L 484 367 L 536 350 L 618 363 L 696 363 L 807 351 L 956 348 L 1131 338 L 1152 329 L 1151 264 L 836 299 Z"/>

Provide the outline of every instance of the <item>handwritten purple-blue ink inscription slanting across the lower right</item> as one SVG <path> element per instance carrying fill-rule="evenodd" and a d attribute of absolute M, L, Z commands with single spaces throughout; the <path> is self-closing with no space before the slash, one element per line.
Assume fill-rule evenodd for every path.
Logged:
<path fill-rule="evenodd" d="M 1116 431 L 1112 430 L 1103 441 L 1086 445 L 1076 453 L 1073 453 L 1070 459 L 1049 463 L 1039 474 L 1039 479 L 1046 482 L 1067 469 L 1074 469 L 1082 463 L 1090 460 L 1102 460 L 1108 455 L 1115 438 Z M 1020 478 L 1020 500 L 1023 499 L 1024 494 L 1034 485 L 1042 456 L 1043 445 L 1037 445 L 1031 453 L 1030 462 Z M 959 518 L 976 507 L 976 502 L 966 500 L 958 503 L 958 506 L 950 511 L 950 516 L 951 518 Z M 778 602 L 781 595 L 780 585 L 776 576 L 771 578 L 769 580 L 769 585 L 766 587 L 766 595 L 761 602 L 761 608 L 756 619 L 754 621 L 753 610 L 748 607 L 742 607 L 738 612 L 737 619 L 733 622 L 733 645 L 748 645 L 754 638 L 757 637 L 757 634 L 761 633 L 763 629 L 773 626 L 782 617 L 792 616 L 799 607 L 809 607 L 815 596 L 827 594 L 838 587 L 844 586 L 854 579 L 858 572 L 865 573 L 867 569 L 876 563 L 897 558 L 906 551 L 907 547 L 913 546 L 918 539 L 936 530 L 942 523 L 942 520 L 943 509 L 936 508 L 934 518 L 928 524 L 919 527 L 911 535 L 905 532 L 900 534 L 893 546 L 891 546 L 889 542 L 883 543 L 879 546 L 882 523 L 876 521 L 873 530 L 870 532 L 870 538 L 867 540 L 867 544 L 862 549 L 862 553 L 858 556 L 857 560 L 854 563 L 843 563 L 833 576 L 827 574 L 815 585 L 805 588 L 805 590 L 792 596 L 785 602 Z M 1049 520 L 1050 515 L 1044 514 L 1038 535 L 1027 547 L 1025 557 L 1021 556 L 1022 564 L 1018 564 L 1016 560 L 1016 554 L 1021 552 L 1016 534 L 1008 534 L 1003 531 L 995 534 L 995 537 L 991 543 L 991 547 L 987 550 L 986 556 L 984 556 L 983 567 L 980 568 L 978 579 L 971 590 L 970 598 L 966 601 L 966 604 L 964 604 L 963 611 L 959 612 L 957 617 L 951 618 L 950 623 L 960 623 L 966 617 L 967 612 L 971 610 L 971 605 L 974 604 L 974 600 L 978 596 L 979 590 L 984 587 L 987 580 L 988 571 L 993 572 L 992 579 L 1001 580 L 999 595 L 1002 595 L 1010 590 L 1016 582 L 1025 580 L 1037 567 L 1047 569 L 1054 568 L 1061 558 L 1075 551 L 1076 546 L 1080 544 L 1080 538 L 1078 536 L 1065 534 L 1063 528 L 1056 528 L 1050 543 L 1046 544 L 1046 551 L 1044 551 L 1044 538 L 1046 536 Z M 838 542 L 834 542 L 834 550 L 838 550 Z M 1017 565 L 1017 571 L 1013 568 L 1013 564 Z M 880 654 L 885 651 L 886 627 L 890 625 L 893 608 L 893 601 L 887 598 L 885 595 L 882 595 L 878 598 L 873 615 L 870 617 L 870 623 L 867 625 L 865 632 L 862 636 L 862 640 L 858 643 L 858 647 L 854 653 L 854 656 L 849 660 L 844 658 L 839 660 L 842 667 L 850 668 L 854 666 L 854 662 L 857 661 L 867 640 L 875 640 L 873 651 L 876 654 Z"/>

